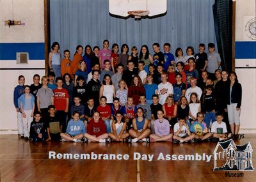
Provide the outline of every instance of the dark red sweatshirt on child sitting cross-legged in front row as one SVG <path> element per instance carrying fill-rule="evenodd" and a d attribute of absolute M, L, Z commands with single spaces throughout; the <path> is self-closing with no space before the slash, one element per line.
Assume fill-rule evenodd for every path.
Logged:
<path fill-rule="evenodd" d="M 104 121 L 100 118 L 99 122 L 95 123 L 94 119 L 92 119 L 87 126 L 87 133 L 89 133 L 90 135 L 95 135 L 96 137 L 107 133 Z"/>

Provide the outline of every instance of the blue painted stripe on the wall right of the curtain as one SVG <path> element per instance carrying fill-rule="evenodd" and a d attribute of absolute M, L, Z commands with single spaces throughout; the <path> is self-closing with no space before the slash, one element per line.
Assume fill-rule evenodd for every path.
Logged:
<path fill-rule="evenodd" d="M 256 59 L 256 41 L 236 42 L 236 59 Z"/>

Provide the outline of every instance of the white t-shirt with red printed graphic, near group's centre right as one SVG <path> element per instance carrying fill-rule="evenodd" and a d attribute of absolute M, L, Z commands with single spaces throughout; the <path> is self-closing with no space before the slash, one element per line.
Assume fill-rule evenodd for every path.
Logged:
<path fill-rule="evenodd" d="M 168 95 L 173 94 L 172 84 L 170 82 L 166 82 L 166 84 L 159 84 L 157 94 L 159 95 L 159 103 L 163 105 Z"/>

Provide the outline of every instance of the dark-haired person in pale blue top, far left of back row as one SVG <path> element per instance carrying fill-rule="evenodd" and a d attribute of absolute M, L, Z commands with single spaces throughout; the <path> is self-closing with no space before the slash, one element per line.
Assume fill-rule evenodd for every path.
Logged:
<path fill-rule="evenodd" d="M 54 72 L 56 77 L 60 77 L 60 65 L 61 65 L 61 55 L 60 55 L 60 44 L 58 42 L 52 43 L 52 51 L 49 53 L 48 65 L 50 72 Z"/>

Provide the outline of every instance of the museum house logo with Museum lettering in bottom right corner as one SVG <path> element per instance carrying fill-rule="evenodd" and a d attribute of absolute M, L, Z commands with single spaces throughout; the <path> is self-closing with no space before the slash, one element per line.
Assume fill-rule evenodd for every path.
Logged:
<path fill-rule="evenodd" d="M 233 171 L 254 171 L 252 152 L 250 142 L 243 146 L 236 145 L 233 139 L 218 142 L 213 152 L 213 171 L 228 171 L 225 177 L 239 177 Z"/>

